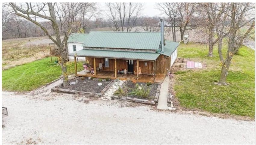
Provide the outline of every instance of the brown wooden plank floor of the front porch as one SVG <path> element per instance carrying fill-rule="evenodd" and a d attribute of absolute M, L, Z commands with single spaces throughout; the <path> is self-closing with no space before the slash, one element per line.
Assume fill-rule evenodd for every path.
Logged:
<path fill-rule="evenodd" d="M 77 76 L 115 79 L 115 73 L 113 71 L 97 71 L 95 76 L 90 74 L 90 72 L 85 72 L 85 70 L 83 70 L 83 71 L 77 72 Z M 164 77 L 165 77 L 164 75 L 156 76 L 155 83 L 162 83 L 164 81 Z M 120 80 L 130 79 L 131 81 L 138 81 L 138 82 L 154 82 L 153 75 L 148 75 L 148 74 L 140 74 L 138 80 L 137 80 L 137 75 L 133 73 L 117 74 L 117 78 L 119 78 Z"/>

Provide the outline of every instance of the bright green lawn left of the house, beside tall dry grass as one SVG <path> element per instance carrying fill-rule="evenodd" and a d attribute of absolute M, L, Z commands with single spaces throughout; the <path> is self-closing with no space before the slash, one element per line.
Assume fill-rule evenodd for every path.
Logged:
<path fill-rule="evenodd" d="M 53 57 L 53 61 L 57 58 Z M 74 73 L 74 63 L 69 62 L 68 71 Z M 78 70 L 82 63 L 78 63 Z M 5 91 L 30 91 L 61 76 L 61 66 L 45 58 L 2 71 L 2 89 Z"/>

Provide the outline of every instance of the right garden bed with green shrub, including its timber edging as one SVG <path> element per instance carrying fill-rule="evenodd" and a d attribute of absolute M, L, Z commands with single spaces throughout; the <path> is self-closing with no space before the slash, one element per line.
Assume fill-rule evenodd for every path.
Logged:
<path fill-rule="evenodd" d="M 156 104 L 160 91 L 158 83 L 134 83 L 127 81 L 114 93 L 113 98 L 144 104 Z"/>

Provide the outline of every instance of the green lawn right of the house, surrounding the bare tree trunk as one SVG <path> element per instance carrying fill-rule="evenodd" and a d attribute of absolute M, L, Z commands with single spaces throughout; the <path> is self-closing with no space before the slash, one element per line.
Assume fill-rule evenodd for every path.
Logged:
<path fill-rule="evenodd" d="M 226 52 L 226 46 L 223 46 Z M 177 71 L 174 90 L 180 105 L 190 109 L 201 109 L 211 113 L 255 116 L 255 55 L 254 51 L 242 47 L 232 59 L 227 82 L 229 86 L 218 86 L 221 66 L 217 47 L 214 57 L 207 57 L 207 45 L 181 44 L 178 57 L 204 62 L 207 69 Z M 226 53 L 224 54 L 226 57 Z"/>

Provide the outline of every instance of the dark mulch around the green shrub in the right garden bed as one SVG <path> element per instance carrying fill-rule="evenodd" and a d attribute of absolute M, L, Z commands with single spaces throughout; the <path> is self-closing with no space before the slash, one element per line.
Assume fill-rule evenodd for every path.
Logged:
<path fill-rule="evenodd" d="M 141 83 L 141 82 L 137 82 L 137 84 L 139 84 L 139 86 L 142 86 L 142 87 L 150 90 L 148 98 L 142 98 L 140 96 L 134 96 L 134 95 L 129 94 L 130 92 L 132 92 L 132 89 L 134 89 L 135 85 L 136 85 L 136 83 L 133 83 L 132 81 L 128 81 L 126 83 L 126 85 L 123 86 L 123 87 L 127 87 L 127 94 L 126 94 L 127 97 L 140 98 L 140 99 L 154 99 L 156 92 L 157 92 L 157 87 L 159 85 L 158 83 L 151 83 L 151 85 L 149 85 L 149 86 L 147 86 L 146 83 Z"/>

